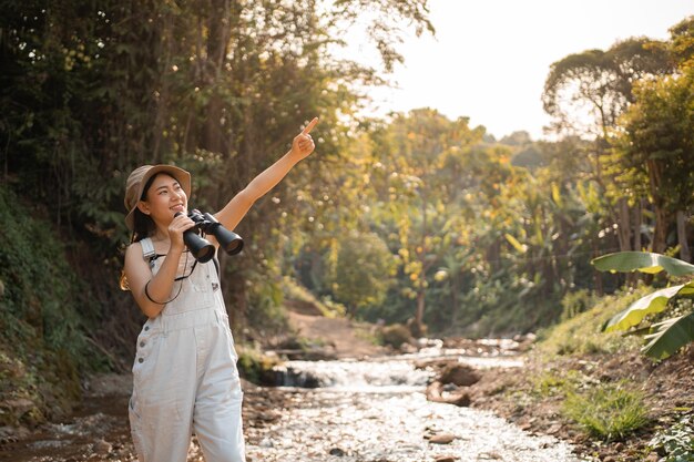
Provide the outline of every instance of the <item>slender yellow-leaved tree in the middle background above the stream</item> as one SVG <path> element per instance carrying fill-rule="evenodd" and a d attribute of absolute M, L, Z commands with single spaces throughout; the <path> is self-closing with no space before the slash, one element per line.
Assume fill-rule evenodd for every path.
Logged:
<path fill-rule="evenodd" d="M 453 232 L 453 215 L 445 212 L 461 194 L 455 160 L 482 134 L 483 129 L 470 129 L 466 117 L 450 121 L 430 109 L 395 114 L 372 134 L 379 167 L 371 183 L 377 203 L 388 211 L 387 226 L 397 235 L 394 245 L 407 277 L 402 292 L 416 300 L 415 335 L 423 332 L 430 269 L 447 248 L 446 236 Z"/>

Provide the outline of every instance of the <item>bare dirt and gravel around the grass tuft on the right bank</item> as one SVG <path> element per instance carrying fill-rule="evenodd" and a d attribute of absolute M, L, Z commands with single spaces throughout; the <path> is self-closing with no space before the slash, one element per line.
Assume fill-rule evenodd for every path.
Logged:
<path fill-rule="evenodd" d="M 650 423 L 623 440 L 589 438 L 561 413 L 563 397 L 538 393 L 538 378 L 548 371 L 579 371 L 593 382 L 626 380 L 644 392 Z M 508 369 L 487 370 L 471 387 L 471 405 L 494 411 L 521 429 L 551 434 L 574 444 L 585 456 L 601 461 L 656 462 L 649 442 L 659 428 L 667 428 L 675 417 L 694 413 L 694 346 L 660 365 L 634 352 L 625 358 L 560 358 L 543 362 L 528 357 L 524 373 Z"/>

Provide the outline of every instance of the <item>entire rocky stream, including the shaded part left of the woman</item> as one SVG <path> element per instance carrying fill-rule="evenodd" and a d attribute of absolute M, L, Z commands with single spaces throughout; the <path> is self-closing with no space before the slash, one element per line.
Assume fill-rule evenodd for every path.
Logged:
<path fill-rule="evenodd" d="M 520 371 L 522 360 L 503 351 L 499 345 L 481 353 L 435 345 L 369 360 L 287 361 L 277 370 L 280 387 L 244 390 L 248 462 L 580 461 L 552 437 L 525 433 L 479 409 L 427 401 L 433 372 L 418 362 L 457 358 L 478 369 Z M 85 399 L 65 422 L 6 438 L 0 461 L 135 461 L 129 378 L 116 382 L 122 384 Z M 203 460 L 193 439 L 188 462 Z"/>

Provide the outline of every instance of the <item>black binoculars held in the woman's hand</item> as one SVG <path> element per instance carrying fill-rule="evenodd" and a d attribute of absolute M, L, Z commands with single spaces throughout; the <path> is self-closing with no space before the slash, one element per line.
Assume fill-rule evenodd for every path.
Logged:
<path fill-rule="evenodd" d="M 175 216 L 178 215 L 182 215 L 181 212 Z M 228 255 L 236 255 L 244 248 L 244 240 L 241 236 L 226 229 L 211 214 L 193 209 L 188 212 L 188 218 L 195 223 L 195 226 L 183 233 L 183 242 L 197 261 L 207 263 L 214 257 L 214 245 L 203 237 L 205 234 L 214 236 Z"/>

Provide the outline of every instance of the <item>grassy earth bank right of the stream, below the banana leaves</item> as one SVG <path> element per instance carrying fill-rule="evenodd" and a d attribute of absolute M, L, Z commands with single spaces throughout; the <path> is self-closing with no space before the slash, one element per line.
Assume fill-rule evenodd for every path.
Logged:
<path fill-rule="evenodd" d="M 694 460 L 694 348 L 654 362 L 641 355 L 641 338 L 601 331 L 651 290 L 600 298 L 540 332 L 523 373 L 487 376 L 473 405 L 567 439 L 590 460 Z"/>

